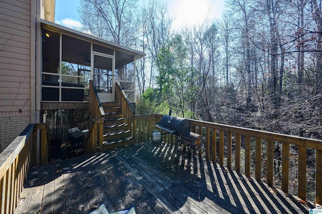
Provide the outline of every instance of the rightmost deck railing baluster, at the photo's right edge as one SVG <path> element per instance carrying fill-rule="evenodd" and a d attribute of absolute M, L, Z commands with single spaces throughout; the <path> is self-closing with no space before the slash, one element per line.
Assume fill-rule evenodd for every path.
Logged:
<path fill-rule="evenodd" d="M 322 150 L 315 154 L 315 202 L 322 204 Z"/>

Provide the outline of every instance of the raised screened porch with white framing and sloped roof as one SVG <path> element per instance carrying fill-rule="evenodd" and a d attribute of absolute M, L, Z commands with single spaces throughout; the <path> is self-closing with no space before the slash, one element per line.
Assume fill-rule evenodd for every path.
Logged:
<path fill-rule="evenodd" d="M 86 102 L 90 79 L 101 102 L 115 100 L 116 81 L 134 102 L 135 60 L 144 53 L 44 20 L 41 26 L 42 102 Z"/>

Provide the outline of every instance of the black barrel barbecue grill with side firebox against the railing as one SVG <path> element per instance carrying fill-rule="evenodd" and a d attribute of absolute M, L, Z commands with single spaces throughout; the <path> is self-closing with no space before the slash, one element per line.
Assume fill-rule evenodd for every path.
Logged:
<path fill-rule="evenodd" d="M 196 151 L 202 146 L 201 136 L 190 132 L 191 124 L 187 119 L 165 115 L 155 124 L 155 127 L 162 130 L 162 135 L 171 133 L 179 136 L 181 143 L 189 146 L 190 149 Z"/>

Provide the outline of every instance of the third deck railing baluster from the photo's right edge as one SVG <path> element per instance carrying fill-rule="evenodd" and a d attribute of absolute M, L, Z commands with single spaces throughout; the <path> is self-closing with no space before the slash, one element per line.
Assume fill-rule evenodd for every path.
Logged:
<path fill-rule="evenodd" d="M 282 191 L 288 193 L 290 145 L 282 143 Z"/>

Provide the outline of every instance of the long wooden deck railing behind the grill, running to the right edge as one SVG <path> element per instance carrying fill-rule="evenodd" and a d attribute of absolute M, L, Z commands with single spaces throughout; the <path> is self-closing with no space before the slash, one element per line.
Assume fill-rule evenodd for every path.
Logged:
<path fill-rule="evenodd" d="M 138 142 L 152 139 L 153 126 L 159 122 L 162 115 L 140 115 L 134 117 L 135 137 Z M 206 160 L 216 162 L 217 153 L 219 164 L 231 169 L 232 157 L 234 157 L 234 170 L 240 172 L 241 160 L 241 142 L 245 149 L 245 174 L 251 176 L 251 145 L 255 144 L 255 178 L 261 180 L 263 152 L 266 152 L 266 170 L 267 183 L 273 186 L 274 175 L 274 142 L 282 144 L 282 170 L 281 189 L 289 192 L 289 158 L 290 145 L 295 145 L 298 148 L 298 192 L 297 195 L 302 200 L 306 199 L 306 154 L 307 148 L 315 150 L 315 202 L 322 204 L 322 141 L 296 137 L 285 134 L 265 132 L 241 127 L 234 127 L 210 122 L 190 120 L 192 132 L 203 135 L 205 142 L 203 150 L 199 151 L 200 157 L 205 157 Z M 217 134 L 219 133 L 219 135 Z M 219 138 L 219 151 L 217 152 L 217 137 Z M 255 138 L 255 140 L 254 140 Z M 174 143 L 175 138 L 171 134 L 163 136 L 163 140 L 168 143 Z M 263 151 L 263 143 L 266 141 L 266 151 Z M 245 143 L 244 143 L 245 142 Z M 232 144 L 234 143 L 234 155 L 232 152 Z M 226 148 L 226 149 L 224 149 Z M 205 154 L 203 154 L 203 151 Z M 224 152 L 226 151 L 226 152 Z M 225 162 L 225 163 L 224 163 Z M 253 173 L 253 172 L 252 172 Z"/>

